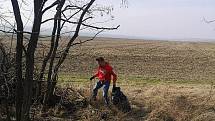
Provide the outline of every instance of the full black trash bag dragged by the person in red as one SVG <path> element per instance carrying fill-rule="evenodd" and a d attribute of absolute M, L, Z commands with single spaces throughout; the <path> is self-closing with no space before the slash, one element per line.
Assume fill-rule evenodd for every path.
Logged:
<path fill-rule="evenodd" d="M 128 98 L 123 94 L 120 87 L 112 89 L 111 101 L 122 112 L 129 112 L 131 110 Z"/>

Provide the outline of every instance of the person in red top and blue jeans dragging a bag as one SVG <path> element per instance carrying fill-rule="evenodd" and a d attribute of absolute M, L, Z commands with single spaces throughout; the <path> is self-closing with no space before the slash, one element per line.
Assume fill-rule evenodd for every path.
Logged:
<path fill-rule="evenodd" d="M 98 93 L 98 89 L 103 87 L 103 97 L 105 99 L 105 104 L 109 104 L 108 99 L 108 90 L 110 87 L 111 80 L 113 80 L 113 88 L 116 87 L 117 75 L 114 73 L 113 68 L 107 63 L 103 57 L 96 58 L 98 62 L 98 69 L 95 75 L 93 75 L 90 80 L 93 80 L 95 77 L 98 78 L 98 82 L 96 83 L 93 89 L 93 100 L 96 100 L 96 96 Z"/>

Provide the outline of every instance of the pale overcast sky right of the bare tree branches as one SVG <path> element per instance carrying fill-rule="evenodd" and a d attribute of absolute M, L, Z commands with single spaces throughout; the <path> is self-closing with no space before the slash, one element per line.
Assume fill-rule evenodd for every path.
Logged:
<path fill-rule="evenodd" d="M 215 19 L 215 0 L 128 0 L 128 8 L 117 0 L 104 1 L 114 5 L 113 24 L 121 25 L 111 34 L 215 39 L 215 23 L 203 21 Z"/>

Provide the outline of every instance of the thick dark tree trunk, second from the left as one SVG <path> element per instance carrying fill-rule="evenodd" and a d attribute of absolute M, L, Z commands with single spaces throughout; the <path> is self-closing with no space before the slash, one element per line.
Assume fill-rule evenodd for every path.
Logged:
<path fill-rule="evenodd" d="M 33 95 L 33 75 L 34 75 L 34 53 L 37 47 L 37 42 L 40 33 L 41 21 L 42 21 L 42 7 L 43 0 L 34 0 L 34 23 L 30 41 L 28 43 L 26 53 L 26 73 L 23 84 L 24 98 L 22 106 L 22 121 L 29 121 L 29 113 L 32 103 Z"/>

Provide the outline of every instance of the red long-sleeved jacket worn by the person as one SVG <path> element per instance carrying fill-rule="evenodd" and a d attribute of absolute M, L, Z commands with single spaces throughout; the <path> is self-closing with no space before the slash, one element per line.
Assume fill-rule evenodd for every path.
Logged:
<path fill-rule="evenodd" d="M 113 68 L 108 63 L 103 67 L 99 66 L 94 76 L 98 77 L 100 81 L 109 82 L 111 81 L 111 76 L 113 76 L 113 84 L 116 84 L 117 75 L 113 72 Z"/>

